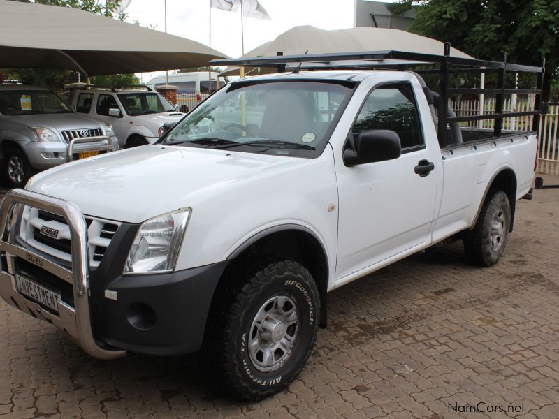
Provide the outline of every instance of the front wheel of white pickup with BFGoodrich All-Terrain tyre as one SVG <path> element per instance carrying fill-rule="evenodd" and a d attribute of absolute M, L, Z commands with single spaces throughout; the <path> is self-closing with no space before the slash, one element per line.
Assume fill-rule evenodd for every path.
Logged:
<path fill-rule="evenodd" d="M 226 278 L 212 304 L 205 347 L 228 392 L 259 400 L 285 388 L 317 337 L 319 291 L 291 260 L 247 263 Z"/>

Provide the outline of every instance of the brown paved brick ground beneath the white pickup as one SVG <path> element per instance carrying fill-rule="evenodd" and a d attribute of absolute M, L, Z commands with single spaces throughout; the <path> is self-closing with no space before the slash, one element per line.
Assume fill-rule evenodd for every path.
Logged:
<path fill-rule="evenodd" d="M 559 184 L 559 177 L 546 177 Z M 13 418 L 559 418 L 559 189 L 518 204 L 488 269 L 460 244 L 329 296 L 330 328 L 300 378 L 256 404 L 217 398 L 196 358 L 85 356 L 47 323 L 0 303 L 0 415 Z"/>

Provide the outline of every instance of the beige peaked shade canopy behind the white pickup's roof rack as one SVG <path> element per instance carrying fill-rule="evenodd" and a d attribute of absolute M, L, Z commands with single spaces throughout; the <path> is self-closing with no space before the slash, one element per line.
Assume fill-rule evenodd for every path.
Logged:
<path fill-rule="evenodd" d="M 312 26 L 289 29 L 275 38 L 247 52 L 242 58 L 270 57 L 277 52 L 284 55 L 326 54 L 335 52 L 401 51 L 442 55 L 444 44 L 435 39 L 412 34 L 399 29 L 357 27 L 327 31 Z M 451 48 L 451 57 L 472 59 L 470 55 Z M 349 64 L 349 63 L 348 63 Z M 363 64 L 361 62 L 361 64 Z M 385 63 L 386 64 L 386 63 Z M 394 62 L 389 64 L 395 64 Z M 293 64 L 298 65 L 298 64 Z M 305 64 L 302 65 L 303 68 Z M 289 65 L 287 66 L 289 68 Z M 245 68 L 250 75 L 275 72 L 273 68 Z M 228 67 L 222 75 L 238 75 L 238 67 Z"/>

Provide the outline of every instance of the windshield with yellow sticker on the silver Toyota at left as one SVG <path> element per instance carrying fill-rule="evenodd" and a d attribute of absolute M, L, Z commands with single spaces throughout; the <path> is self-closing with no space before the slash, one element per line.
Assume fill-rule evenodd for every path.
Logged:
<path fill-rule="evenodd" d="M 71 108 L 52 91 L 0 91 L 0 113 L 3 115 L 38 115 L 71 112 L 73 112 Z"/>

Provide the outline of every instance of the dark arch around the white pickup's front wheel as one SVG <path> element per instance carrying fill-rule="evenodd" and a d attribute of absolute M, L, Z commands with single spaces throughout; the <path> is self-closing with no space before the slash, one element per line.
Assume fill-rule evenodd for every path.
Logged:
<path fill-rule="evenodd" d="M 324 243 L 305 226 L 282 224 L 261 230 L 233 250 L 227 260 L 238 260 L 255 254 L 269 254 L 275 258 L 288 258 L 302 263 L 312 274 L 320 293 L 320 323 L 326 328 L 328 293 L 328 253 Z M 217 288 L 221 279 L 217 284 Z"/>

